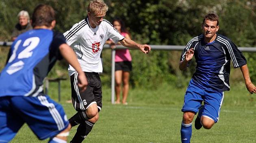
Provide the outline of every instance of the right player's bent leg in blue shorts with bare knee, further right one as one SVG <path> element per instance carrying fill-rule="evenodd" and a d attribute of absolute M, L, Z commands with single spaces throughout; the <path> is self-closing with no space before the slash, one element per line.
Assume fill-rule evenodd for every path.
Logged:
<path fill-rule="evenodd" d="M 205 89 L 205 91 L 204 108 L 202 109 L 200 121 L 205 129 L 210 129 L 219 120 L 224 93 L 211 89 Z"/>

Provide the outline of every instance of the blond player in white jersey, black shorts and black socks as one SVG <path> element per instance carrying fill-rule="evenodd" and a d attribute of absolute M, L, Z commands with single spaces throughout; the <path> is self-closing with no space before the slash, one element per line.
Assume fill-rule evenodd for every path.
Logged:
<path fill-rule="evenodd" d="M 84 92 L 76 85 L 77 72 L 69 65 L 68 71 L 72 86 L 72 103 L 77 113 L 69 119 L 72 126 L 79 124 L 76 135 L 71 143 L 81 143 L 89 134 L 99 118 L 102 108 L 101 80 L 98 73 L 102 72 L 100 53 L 108 38 L 120 42 L 123 46 L 138 48 L 147 54 L 151 48 L 146 44 L 138 44 L 124 38 L 107 20 L 103 19 L 108 6 L 103 0 L 91 0 L 87 12 L 88 17 L 73 25 L 64 36 L 77 54 L 78 61 L 88 79 L 88 86 Z"/>

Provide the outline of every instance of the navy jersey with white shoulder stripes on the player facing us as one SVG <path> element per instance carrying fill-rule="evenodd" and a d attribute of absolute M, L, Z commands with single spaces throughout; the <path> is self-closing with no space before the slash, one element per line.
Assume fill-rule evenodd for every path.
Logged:
<path fill-rule="evenodd" d="M 220 34 L 217 34 L 215 40 L 210 43 L 204 42 L 204 34 L 191 39 L 182 52 L 180 61 L 184 60 L 184 54 L 190 48 L 194 48 L 194 57 L 197 63 L 192 80 L 206 88 L 217 91 L 230 90 L 231 60 L 234 68 L 247 63 L 237 46 L 230 39 Z"/>

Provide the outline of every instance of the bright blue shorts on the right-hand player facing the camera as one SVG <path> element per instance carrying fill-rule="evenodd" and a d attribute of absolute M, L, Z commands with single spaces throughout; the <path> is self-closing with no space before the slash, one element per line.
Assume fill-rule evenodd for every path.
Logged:
<path fill-rule="evenodd" d="M 204 86 L 196 84 L 193 80 L 190 80 L 181 111 L 193 111 L 196 114 L 202 101 L 204 101 L 202 116 L 210 118 L 217 123 L 223 97 L 223 92 L 205 88 Z"/>

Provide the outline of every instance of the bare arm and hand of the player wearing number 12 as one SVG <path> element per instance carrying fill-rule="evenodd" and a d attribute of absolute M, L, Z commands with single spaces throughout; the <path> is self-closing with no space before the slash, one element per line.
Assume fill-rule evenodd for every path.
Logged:
<path fill-rule="evenodd" d="M 76 54 L 67 44 L 61 44 L 61 46 L 59 46 L 59 50 L 61 51 L 63 58 L 66 59 L 67 62 L 78 72 L 78 87 L 81 88 L 81 91 L 84 91 L 88 85 L 88 82 L 85 73 L 82 71 L 78 63 Z"/>

